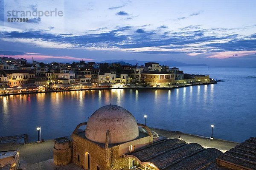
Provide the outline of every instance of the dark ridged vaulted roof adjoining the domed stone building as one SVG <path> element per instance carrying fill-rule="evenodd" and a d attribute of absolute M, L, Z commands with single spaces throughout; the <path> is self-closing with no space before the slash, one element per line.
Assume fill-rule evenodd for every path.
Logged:
<path fill-rule="evenodd" d="M 161 170 L 203 169 L 222 154 L 217 149 L 205 149 L 200 144 L 188 144 L 182 139 L 163 139 L 129 153 Z"/>

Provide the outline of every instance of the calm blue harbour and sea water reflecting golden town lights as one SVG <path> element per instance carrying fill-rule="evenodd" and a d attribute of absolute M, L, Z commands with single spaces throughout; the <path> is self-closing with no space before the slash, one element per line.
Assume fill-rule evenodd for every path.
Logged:
<path fill-rule="evenodd" d="M 180 67 L 184 73 L 207 74 L 207 67 Z M 0 136 L 27 133 L 37 140 L 70 135 L 98 108 L 115 104 L 140 123 L 167 130 L 243 142 L 256 136 L 256 68 L 209 67 L 215 85 L 172 90 L 72 91 L 0 97 Z"/>

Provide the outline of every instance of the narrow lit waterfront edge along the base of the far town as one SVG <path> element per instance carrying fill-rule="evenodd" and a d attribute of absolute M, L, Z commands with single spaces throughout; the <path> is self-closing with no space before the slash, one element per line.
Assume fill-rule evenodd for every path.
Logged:
<path fill-rule="evenodd" d="M 60 91 L 87 91 L 87 90 L 112 90 L 112 89 L 160 89 L 160 90 L 170 90 L 176 88 L 184 88 L 189 86 L 195 85 L 210 85 L 210 84 L 217 84 L 217 82 L 204 82 L 204 83 L 195 83 L 195 84 L 185 84 L 185 85 L 175 85 L 170 87 L 122 87 L 122 88 L 82 88 L 82 89 L 70 89 L 70 90 L 54 90 L 54 91 L 33 91 L 33 92 L 26 92 L 26 93 L 12 93 L 12 94 L 0 94 L 0 96 L 12 96 L 12 95 L 23 95 L 23 94 L 41 94 L 41 93 L 52 93 L 52 92 L 60 92 Z"/>

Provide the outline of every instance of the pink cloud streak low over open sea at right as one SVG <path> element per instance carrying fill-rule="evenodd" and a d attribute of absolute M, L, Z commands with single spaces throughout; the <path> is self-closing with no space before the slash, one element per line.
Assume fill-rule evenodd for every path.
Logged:
<path fill-rule="evenodd" d="M 219 59 L 236 58 L 236 57 L 252 55 L 255 53 L 256 51 L 224 51 L 224 52 L 213 53 L 207 58 L 219 58 Z"/>

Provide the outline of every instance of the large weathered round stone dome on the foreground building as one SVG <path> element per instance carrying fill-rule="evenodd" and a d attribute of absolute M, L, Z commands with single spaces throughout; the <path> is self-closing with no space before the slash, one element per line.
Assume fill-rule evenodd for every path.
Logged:
<path fill-rule="evenodd" d="M 139 136 L 134 116 L 117 105 L 106 105 L 96 110 L 89 118 L 85 136 L 94 142 L 105 143 L 109 133 L 109 144 L 128 142 Z"/>

